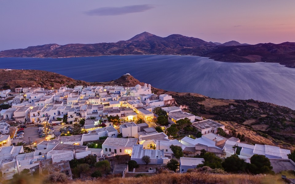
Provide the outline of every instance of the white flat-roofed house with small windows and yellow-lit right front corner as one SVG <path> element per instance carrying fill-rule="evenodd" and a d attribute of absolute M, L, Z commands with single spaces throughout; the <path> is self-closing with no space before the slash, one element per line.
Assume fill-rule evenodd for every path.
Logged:
<path fill-rule="evenodd" d="M 137 138 L 115 138 L 108 137 L 102 144 L 105 155 L 131 155 L 132 147 L 137 143 Z"/>

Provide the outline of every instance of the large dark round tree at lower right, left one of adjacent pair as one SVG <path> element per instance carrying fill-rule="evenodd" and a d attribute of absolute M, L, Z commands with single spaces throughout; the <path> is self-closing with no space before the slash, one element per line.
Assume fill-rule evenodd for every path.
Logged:
<path fill-rule="evenodd" d="M 247 163 L 237 155 L 231 155 L 222 162 L 222 167 L 226 172 L 238 173 L 245 171 Z"/>

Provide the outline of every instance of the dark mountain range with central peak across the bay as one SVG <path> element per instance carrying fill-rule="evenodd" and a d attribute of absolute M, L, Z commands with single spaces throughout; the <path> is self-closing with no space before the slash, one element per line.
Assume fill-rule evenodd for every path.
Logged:
<path fill-rule="evenodd" d="M 160 37 L 148 32 L 116 43 L 45 44 L 5 50 L 0 52 L 0 57 L 61 58 L 143 54 L 203 56 L 225 62 L 271 62 L 295 67 L 294 42 L 249 45 L 229 41 L 221 44 L 179 34 Z"/>

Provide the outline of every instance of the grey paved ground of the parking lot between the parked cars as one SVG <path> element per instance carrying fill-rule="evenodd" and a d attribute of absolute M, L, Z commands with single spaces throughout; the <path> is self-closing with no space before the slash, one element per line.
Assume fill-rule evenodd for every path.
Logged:
<path fill-rule="evenodd" d="M 53 130 L 54 130 L 54 135 L 55 135 L 55 139 L 58 139 L 58 136 L 60 135 L 60 128 L 64 126 L 64 125 L 56 125 L 53 126 Z M 27 128 L 25 129 L 25 134 L 24 134 L 24 138 L 21 139 L 15 139 L 13 141 L 11 141 L 12 143 L 18 143 L 18 142 L 22 142 L 22 141 L 26 141 L 26 145 L 29 145 L 30 141 L 29 141 L 29 137 L 31 141 L 37 141 L 38 143 L 41 143 L 43 140 L 46 140 L 45 137 L 39 137 L 39 128 L 37 126 L 27 126 Z M 33 144 L 32 144 L 33 145 Z"/>

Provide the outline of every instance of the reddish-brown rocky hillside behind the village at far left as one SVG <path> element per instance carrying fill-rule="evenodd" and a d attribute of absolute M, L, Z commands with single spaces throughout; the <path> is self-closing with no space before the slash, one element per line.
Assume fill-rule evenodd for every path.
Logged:
<path fill-rule="evenodd" d="M 88 82 L 75 80 L 54 72 L 41 70 L 11 70 L 0 69 L 0 87 L 44 87 L 57 89 L 61 86 L 89 85 Z"/>

